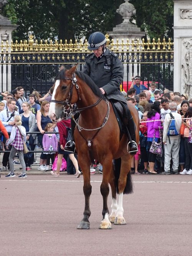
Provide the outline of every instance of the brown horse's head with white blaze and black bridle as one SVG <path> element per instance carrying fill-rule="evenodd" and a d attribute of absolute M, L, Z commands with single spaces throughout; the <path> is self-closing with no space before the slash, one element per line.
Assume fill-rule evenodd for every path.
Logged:
<path fill-rule="evenodd" d="M 70 70 L 61 70 L 56 76 L 54 84 L 54 91 L 51 98 L 49 117 L 53 121 L 58 121 L 63 116 L 63 106 L 68 107 L 69 104 L 73 104 L 78 101 L 77 90 L 74 89 L 74 73 L 76 66 Z M 69 102 L 68 102 L 69 101 Z"/>

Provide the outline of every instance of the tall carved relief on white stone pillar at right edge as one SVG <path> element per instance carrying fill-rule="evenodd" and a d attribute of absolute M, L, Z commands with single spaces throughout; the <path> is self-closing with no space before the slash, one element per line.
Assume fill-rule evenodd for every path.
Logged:
<path fill-rule="evenodd" d="M 185 93 L 192 96 L 192 38 L 184 38 L 182 40 L 182 72 L 181 85 Z"/>

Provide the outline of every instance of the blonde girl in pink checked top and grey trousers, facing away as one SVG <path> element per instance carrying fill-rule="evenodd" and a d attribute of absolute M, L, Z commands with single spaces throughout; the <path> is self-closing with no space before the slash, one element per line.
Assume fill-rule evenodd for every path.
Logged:
<path fill-rule="evenodd" d="M 15 154 L 18 151 L 19 160 L 23 169 L 22 174 L 18 176 L 18 178 L 26 178 L 27 177 L 26 166 L 25 166 L 25 161 L 23 156 L 23 141 L 26 142 L 26 130 L 25 130 L 25 127 L 22 126 L 21 116 L 19 115 L 15 116 L 14 121 L 15 121 L 15 126 L 13 126 L 10 138 L 6 143 L 6 148 L 8 149 L 8 146 L 12 145 L 12 149 L 9 155 L 10 173 L 5 177 L 6 178 L 15 177 L 13 160 L 15 158 Z"/>

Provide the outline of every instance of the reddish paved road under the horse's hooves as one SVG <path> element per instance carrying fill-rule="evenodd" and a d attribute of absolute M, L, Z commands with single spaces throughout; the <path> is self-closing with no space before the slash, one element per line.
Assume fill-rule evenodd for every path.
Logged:
<path fill-rule="evenodd" d="M 0 178 L 2 256 L 191 256 L 192 176 L 132 175 L 134 194 L 124 196 L 127 225 L 98 229 L 102 175 L 91 175 L 90 230 L 83 217 L 83 177 L 28 175 Z M 109 196 L 109 207 L 111 196 Z"/>

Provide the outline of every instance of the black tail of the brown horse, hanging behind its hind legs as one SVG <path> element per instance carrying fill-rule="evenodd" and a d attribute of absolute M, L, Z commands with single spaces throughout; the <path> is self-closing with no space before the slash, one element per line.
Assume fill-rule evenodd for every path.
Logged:
<path fill-rule="evenodd" d="M 116 185 L 116 191 L 119 193 L 119 188 L 118 188 L 118 180 L 119 180 L 119 175 L 121 171 L 121 158 L 115 159 L 114 160 L 114 174 L 115 174 L 115 185 Z M 125 189 L 123 191 L 123 194 L 131 194 L 133 192 L 133 185 L 132 185 L 132 178 L 131 178 L 131 172 L 127 174 L 127 182 Z"/>

